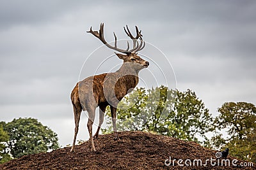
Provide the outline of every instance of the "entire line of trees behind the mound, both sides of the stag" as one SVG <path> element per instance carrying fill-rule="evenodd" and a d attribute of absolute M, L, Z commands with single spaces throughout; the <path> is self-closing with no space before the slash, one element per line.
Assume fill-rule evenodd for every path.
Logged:
<path fill-rule="evenodd" d="M 218 115 L 213 117 L 189 89 L 181 92 L 164 86 L 137 88 L 118 104 L 116 125 L 118 131 L 152 132 L 216 150 L 229 148 L 230 155 L 256 162 L 255 105 L 227 102 L 217 111 Z M 104 134 L 112 131 L 109 108 L 105 119 Z M 0 122 L 0 164 L 59 147 L 57 134 L 35 118 Z"/>

